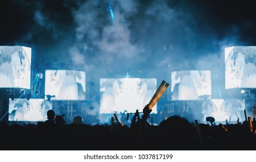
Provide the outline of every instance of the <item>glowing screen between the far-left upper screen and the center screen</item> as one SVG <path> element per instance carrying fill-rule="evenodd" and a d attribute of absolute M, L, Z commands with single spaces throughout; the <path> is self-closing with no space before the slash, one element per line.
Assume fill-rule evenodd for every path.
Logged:
<path fill-rule="evenodd" d="M 55 95 L 56 100 L 86 100 L 86 72 L 45 71 L 45 95 Z"/>

